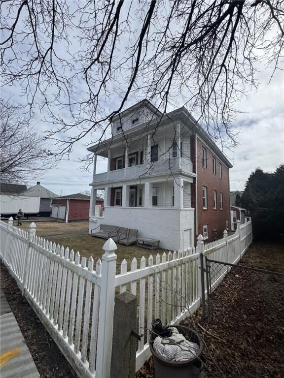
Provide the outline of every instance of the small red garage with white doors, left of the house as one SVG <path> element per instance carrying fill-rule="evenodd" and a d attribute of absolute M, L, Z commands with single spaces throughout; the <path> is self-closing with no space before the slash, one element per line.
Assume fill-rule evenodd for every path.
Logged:
<path fill-rule="evenodd" d="M 52 199 L 51 217 L 68 221 L 89 219 L 90 196 L 76 193 Z"/>

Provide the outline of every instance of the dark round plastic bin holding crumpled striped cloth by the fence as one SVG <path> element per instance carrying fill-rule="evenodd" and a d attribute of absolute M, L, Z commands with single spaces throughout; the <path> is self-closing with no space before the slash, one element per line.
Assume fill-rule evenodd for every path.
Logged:
<path fill-rule="evenodd" d="M 200 355 L 203 349 L 203 343 L 199 335 L 189 329 L 188 327 L 175 326 L 178 332 L 181 333 L 187 340 L 196 343 L 199 349 L 196 356 L 185 362 L 179 361 L 169 361 L 160 356 L 153 349 L 153 340 L 150 340 L 150 350 L 153 355 L 154 366 L 155 366 L 155 377 L 156 378 L 202 378 L 202 371 L 205 368 L 204 362 L 200 359 Z"/>

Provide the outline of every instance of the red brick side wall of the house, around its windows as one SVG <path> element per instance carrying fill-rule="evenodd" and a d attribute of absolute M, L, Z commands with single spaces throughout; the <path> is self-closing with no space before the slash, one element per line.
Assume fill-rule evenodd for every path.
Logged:
<path fill-rule="evenodd" d="M 208 225 L 208 241 L 223 235 L 226 221 L 230 227 L 229 169 L 222 163 L 222 179 L 219 178 L 219 158 L 207 148 L 207 168 L 202 166 L 203 143 L 197 138 L 197 192 L 198 192 L 198 235 L 203 235 L 203 226 Z M 216 158 L 216 175 L 213 174 L 213 156 Z M 203 209 L 202 187 L 207 187 L 207 209 Z M 213 209 L 213 190 L 217 191 L 216 210 Z M 223 210 L 220 210 L 220 192 L 223 193 Z"/>

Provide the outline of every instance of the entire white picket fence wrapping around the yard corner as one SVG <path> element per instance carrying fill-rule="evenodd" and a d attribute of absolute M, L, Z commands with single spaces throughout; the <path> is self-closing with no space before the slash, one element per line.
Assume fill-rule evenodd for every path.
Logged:
<path fill-rule="evenodd" d="M 159 253 L 148 260 L 123 260 L 116 275 L 116 245 L 109 239 L 94 271 L 90 257 L 0 221 L 0 257 L 79 377 L 109 378 L 113 305 L 116 292 L 137 296 L 139 333 L 136 369 L 150 356 L 149 329 L 153 318 L 177 324 L 201 304 L 200 253 L 211 259 L 236 263 L 252 241 L 251 221 L 234 235 L 196 248 Z M 222 277 L 217 277 L 215 284 Z"/>

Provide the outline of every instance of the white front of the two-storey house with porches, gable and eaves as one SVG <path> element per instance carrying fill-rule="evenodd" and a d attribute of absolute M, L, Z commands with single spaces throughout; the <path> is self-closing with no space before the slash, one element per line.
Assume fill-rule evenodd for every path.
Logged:
<path fill-rule="evenodd" d="M 89 232 L 101 223 L 113 224 L 159 239 L 162 248 L 193 246 L 195 164 L 202 160 L 192 147 L 196 134 L 216 156 L 228 160 L 184 108 L 162 117 L 143 100 L 112 119 L 112 134 L 111 139 L 88 149 L 95 154 Z M 97 156 L 108 158 L 107 172 L 96 174 Z M 104 217 L 95 216 L 98 189 L 105 190 Z"/>

